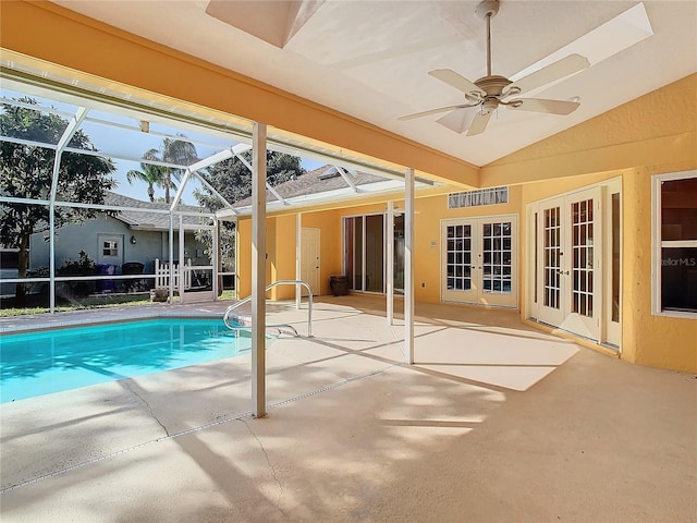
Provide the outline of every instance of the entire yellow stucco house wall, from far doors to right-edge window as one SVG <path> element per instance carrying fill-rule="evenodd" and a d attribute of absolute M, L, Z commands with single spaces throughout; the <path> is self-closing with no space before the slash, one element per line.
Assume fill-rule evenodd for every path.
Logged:
<path fill-rule="evenodd" d="M 526 206 L 606 180 L 622 180 L 622 358 L 697 372 L 694 339 L 697 319 L 651 313 L 651 175 L 697 168 L 697 75 L 650 93 L 607 114 L 560 133 L 482 169 L 482 180 L 502 182 L 512 174 L 511 202 L 502 206 L 448 209 L 445 196 L 415 204 L 415 299 L 440 300 L 440 221 L 444 218 L 517 214 L 519 226 L 519 302 L 525 308 L 528 231 Z M 661 108 L 660 110 L 657 108 Z M 657 118 L 660 118 L 657 122 Z M 559 154 L 555 154 L 558 151 Z M 496 185 L 494 184 L 494 185 Z M 402 202 L 396 203 L 398 206 Z M 341 217 L 383 211 L 383 203 L 306 214 L 322 230 Z M 311 218 L 310 218 L 311 217 Z M 341 230 L 334 259 L 341 267 Z M 325 234 L 322 235 L 322 239 Z M 293 234 L 294 239 L 294 234 Z M 436 241 L 437 248 L 431 248 Z M 322 241 L 322 251 L 327 247 Z M 323 255 L 323 260 L 327 256 Z M 325 266 L 325 264 L 322 264 Z M 294 267 L 294 258 L 293 258 Z"/>

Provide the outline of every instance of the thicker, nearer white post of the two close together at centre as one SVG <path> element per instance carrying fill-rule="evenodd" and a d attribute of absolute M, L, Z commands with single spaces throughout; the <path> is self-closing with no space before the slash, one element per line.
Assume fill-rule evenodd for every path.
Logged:
<path fill-rule="evenodd" d="M 414 169 L 404 177 L 404 349 L 414 364 Z"/>

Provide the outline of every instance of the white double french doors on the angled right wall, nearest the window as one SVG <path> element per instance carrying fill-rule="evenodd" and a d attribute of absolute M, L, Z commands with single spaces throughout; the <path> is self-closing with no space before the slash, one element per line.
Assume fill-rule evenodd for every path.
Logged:
<path fill-rule="evenodd" d="M 601 311 L 601 192 L 589 188 L 539 204 L 537 319 L 598 340 Z"/>

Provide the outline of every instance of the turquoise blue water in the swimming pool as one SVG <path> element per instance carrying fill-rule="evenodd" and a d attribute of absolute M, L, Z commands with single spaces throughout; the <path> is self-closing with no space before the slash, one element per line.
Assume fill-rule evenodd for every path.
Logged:
<path fill-rule="evenodd" d="M 148 319 L 0 336 L 0 402 L 248 353 L 220 319 Z"/>

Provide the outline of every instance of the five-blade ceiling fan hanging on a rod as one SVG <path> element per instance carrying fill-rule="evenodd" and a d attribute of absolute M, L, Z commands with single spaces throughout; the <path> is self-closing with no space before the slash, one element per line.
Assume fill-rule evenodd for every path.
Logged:
<path fill-rule="evenodd" d="M 514 98 L 523 93 L 583 71 L 590 65 L 587 58 L 570 54 L 527 76 L 511 82 L 505 76 L 491 74 L 491 17 L 499 12 L 499 0 L 484 0 L 477 5 L 475 14 L 487 22 L 487 75 L 474 83 L 450 69 L 437 69 L 428 74 L 465 95 L 465 102 L 440 107 L 428 111 L 400 117 L 399 120 L 413 120 L 447 112 L 437 121 L 456 133 L 467 131 L 467 136 L 484 133 L 489 119 L 499 106 L 519 111 L 543 112 L 548 114 L 571 114 L 580 104 L 577 100 L 549 100 L 543 98 Z M 512 98 L 513 97 L 513 98 Z M 467 109 L 477 108 L 476 111 Z"/>

